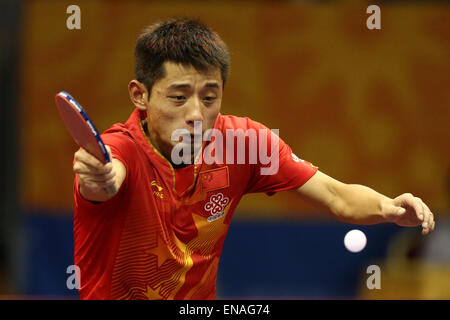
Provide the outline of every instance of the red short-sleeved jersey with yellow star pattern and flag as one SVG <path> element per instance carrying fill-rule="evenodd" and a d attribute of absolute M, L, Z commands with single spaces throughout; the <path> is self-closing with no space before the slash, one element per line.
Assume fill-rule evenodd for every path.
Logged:
<path fill-rule="evenodd" d="M 264 165 L 249 161 L 203 161 L 174 169 L 148 140 L 144 118 L 145 112 L 136 109 L 125 124 L 102 134 L 127 171 L 113 198 L 85 200 L 75 177 L 81 299 L 215 299 L 219 258 L 241 197 L 298 188 L 317 167 L 279 139 L 276 174 L 262 175 Z M 224 136 L 227 129 L 268 131 L 249 118 L 221 114 L 214 128 Z"/>

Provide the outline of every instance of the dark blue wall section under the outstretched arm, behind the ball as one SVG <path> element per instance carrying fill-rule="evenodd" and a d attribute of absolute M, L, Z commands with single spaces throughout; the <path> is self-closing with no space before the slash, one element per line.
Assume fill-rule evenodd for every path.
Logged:
<path fill-rule="evenodd" d="M 344 236 L 360 229 L 366 248 L 351 253 Z M 369 265 L 385 257 L 392 224 L 239 222 L 231 225 L 219 266 L 220 296 L 352 298 Z"/>

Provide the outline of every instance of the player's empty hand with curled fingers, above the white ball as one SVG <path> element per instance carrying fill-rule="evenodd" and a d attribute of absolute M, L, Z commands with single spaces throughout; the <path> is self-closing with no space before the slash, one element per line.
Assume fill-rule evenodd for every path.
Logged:
<path fill-rule="evenodd" d="M 430 208 L 418 197 L 404 193 L 393 199 L 384 209 L 386 218 L 402 227 L 422 225 L 422 234 L 434 230 L 434 216 Z"/>

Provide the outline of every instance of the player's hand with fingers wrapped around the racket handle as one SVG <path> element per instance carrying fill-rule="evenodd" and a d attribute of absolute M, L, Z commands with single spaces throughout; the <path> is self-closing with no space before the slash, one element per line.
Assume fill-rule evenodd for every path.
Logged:
<path fill-rule="evenodd" d="M 106 146 L 106 150 L 112 159 L 111 149 Z M 80 192 L 88 200 L 99 200 L 95 196 L 96 199 L 92 199 L 92 195 L 98 194 L 102 198 L 106 188 L 116 183 L 116 172 L 112 162 L 103 164 L 83 148 L 75 152 L 74 156 L 76 162 L 73 165 L 73 171 L 78 174 Z"/>

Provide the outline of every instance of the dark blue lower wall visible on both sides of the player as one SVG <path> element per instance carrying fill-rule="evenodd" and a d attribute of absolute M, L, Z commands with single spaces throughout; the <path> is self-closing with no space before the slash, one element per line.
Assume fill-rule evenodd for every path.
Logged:
<path fill-rule="evenodd" d="M 24 294 L 79 298 L 66 287 L 73 264 L 72 218 L 27 216 Z M 368 238 L 360 253 L 343 245 L 347 231 Z M 218 274 L 218 298 L 352 298 L 367 266 L 385 256 L 401 228 L 391 224 L 354 226 L 338 222 L 270 221 L 231 224 Z"/>

